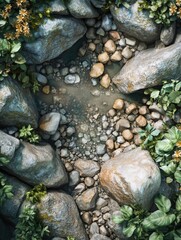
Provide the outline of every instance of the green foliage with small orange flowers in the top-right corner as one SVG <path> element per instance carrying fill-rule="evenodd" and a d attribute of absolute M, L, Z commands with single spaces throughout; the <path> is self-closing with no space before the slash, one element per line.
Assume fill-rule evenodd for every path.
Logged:
<path fill-rule="evenodd" d="M 180 0 L 141 0 L 139 9 L 148 10 L 149 17 L 157 24 L 169 26 L 181 18 Z"/>

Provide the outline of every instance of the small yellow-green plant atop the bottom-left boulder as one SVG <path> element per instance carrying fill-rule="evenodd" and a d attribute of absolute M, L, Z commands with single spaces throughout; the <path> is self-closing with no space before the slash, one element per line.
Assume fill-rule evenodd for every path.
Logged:
<path fill-rule="evenodd" d="M 46 195 L 46 187 L 43 184 L 35 186 L 31 191 L 26 193 L 26 200 L 35 204 L 41 200 L 42 197 Z"/>

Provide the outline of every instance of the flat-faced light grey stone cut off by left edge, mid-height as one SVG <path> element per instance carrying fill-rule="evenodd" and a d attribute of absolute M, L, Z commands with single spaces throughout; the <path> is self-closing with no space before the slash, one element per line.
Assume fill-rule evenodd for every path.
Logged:
<path fill-rule="evenodd" d="M 12 137 L 0 130 L 0 154 L 11 160 L 14 157 L 15 151 L 18 149 L 19 144 L 19 139 Z"/>

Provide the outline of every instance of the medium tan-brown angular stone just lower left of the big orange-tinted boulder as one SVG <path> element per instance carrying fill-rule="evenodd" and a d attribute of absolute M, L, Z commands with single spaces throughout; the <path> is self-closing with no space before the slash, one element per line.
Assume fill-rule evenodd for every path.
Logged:
<path fill-rule="evenodd" d="M 96 200 L 98 198 L 97 188 L 90 188 L 84 191 L 77 199 L 76 203 L 81 211 L 92 210 L 96 206 Z"/>

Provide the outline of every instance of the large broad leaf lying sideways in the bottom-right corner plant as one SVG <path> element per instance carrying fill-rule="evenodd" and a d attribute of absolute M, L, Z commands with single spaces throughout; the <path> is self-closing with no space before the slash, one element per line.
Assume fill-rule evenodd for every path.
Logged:
<path fill-rule="evenodd" d="M 156 230 L 159 227 L 169 226 L 175 220 L 175 218 L 175 214 L 166 214 L 160 210 L 157 210 L 145 218 L 142 222 L 142 225 L 146 230 Z"/>

